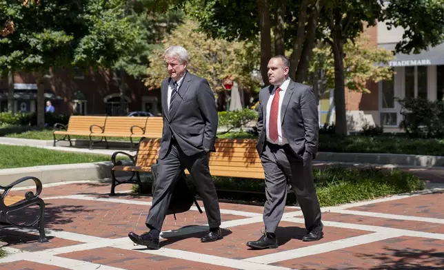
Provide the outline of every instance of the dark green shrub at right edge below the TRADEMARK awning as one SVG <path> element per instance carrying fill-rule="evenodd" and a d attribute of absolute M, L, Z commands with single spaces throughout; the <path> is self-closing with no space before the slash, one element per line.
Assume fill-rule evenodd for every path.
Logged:
<path fill-rule="evenodd" d="M 403 120 L 399 127 L 412 138 L 444 136 L 444 101 L 425 98 L 397 98 Z"/>

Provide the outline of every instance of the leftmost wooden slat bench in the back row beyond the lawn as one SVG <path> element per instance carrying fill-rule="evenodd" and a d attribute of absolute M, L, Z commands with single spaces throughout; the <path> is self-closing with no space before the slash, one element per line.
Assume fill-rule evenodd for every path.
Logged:
<path fill-rule="evenodd" d="M 105 121 L 106 116 L 70 116 L 68 125 L 54 124 L 54 132 L 52 132 L 54 137 L 53 146 L 56 146 L 58 141 L 66 141 L 66 138 L 72 146 L 71 135 L 90 136 L 92 132 L 101 132 L 105 126 Z M 57 139 L 56 135 L 63 135 L 63 138 Z"/>

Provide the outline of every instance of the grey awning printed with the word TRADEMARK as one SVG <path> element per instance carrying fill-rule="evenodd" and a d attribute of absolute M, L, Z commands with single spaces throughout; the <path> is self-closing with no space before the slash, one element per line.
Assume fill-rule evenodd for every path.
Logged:
<path fill-rule="evenodd" d="M 396 43 L 383 43 L 378 46 L 394 51 Z M 389 61 L 390 67 L 407 67 L 412 65 L 444 65 L 444 43 L 419 54 L 395 54 L 395 59 Z"/>

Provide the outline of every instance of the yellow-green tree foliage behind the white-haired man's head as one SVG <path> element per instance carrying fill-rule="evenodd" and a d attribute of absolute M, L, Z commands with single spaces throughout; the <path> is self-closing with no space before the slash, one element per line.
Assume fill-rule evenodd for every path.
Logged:
<path fill-rule="evenodd" d="M 163 62 L 163 53 L 171 45 L 182 45 L 188 50 L 190 61 L 188 70 L 193 74 L 208 79 L 213 91 L 225 90 L 223 79 L 230 77 L 243 89 L 257 87 L 259 82 L 250 76 L 252 59 L 259 52 L 252 44 L 245 42 L 229 42 L 223 39 L 208 39 L 205 34 L 197 32 L 198 23 L 186 19 L 183 25 L 172 31 L 162 43 L 161 50 L 154 50 L 150 57 L 150 67 L 145 85 L 150 89 L 158 88 L 168 76 Z"/>

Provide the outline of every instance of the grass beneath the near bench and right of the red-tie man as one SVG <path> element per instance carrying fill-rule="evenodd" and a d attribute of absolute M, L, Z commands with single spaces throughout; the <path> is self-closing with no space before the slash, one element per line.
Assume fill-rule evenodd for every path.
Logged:
<path fill-rule="evenodd" d="M 334 166 L 314 169 L 313 172 L 321 207 L 372 200 L 425 188 L 425 183 L 418 177 L 397 170 Z M 263 179 L 213 176 L 213 180 L 220 199 L 256 203 L 265 201 Z M 190 176 L 188 181 L 192 185 Z M 147 188 L 150 192 L 150 187 Z M 139 186 L 134 185 L 133 191 L 139 192 Z M 290 196 L 287 203 L 292 203 Z"/>

